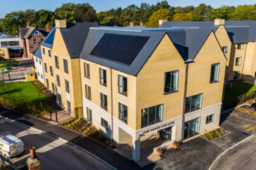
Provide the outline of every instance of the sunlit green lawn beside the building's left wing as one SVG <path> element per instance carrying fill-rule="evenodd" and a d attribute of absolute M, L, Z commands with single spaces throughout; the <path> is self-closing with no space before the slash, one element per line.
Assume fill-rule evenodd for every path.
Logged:
<path fill-rule="evenodd" d="M 0 97 L 4 96 L 9 100 L 15 100 L 16 104 L 29 103 L 35 105 L 37 109 L 41 109 L 41 104 L 44 110 L 50 112 L 51 109 L 46 105 L 49 98 L 38 91 L 30 81 L 0 83 Z M 41 101 L 41 104 L 40 104 Z"/>

